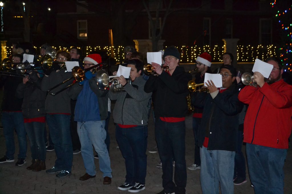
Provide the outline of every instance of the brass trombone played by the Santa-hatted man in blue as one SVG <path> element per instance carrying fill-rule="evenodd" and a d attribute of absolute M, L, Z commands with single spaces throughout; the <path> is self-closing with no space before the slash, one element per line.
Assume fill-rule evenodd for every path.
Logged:
<path fill-rule="evenodd" d="M 97 72 L 97 70 L 101 70 L 102 68 L 105 68 L 105 67 L 107 67 L 107 65 L 103 65 L 102 63 L 99 63 L 97 65 L 94 65 L 92 67 L 89 67 L 86 70 L 82 70 L 81 67 L 75 66 L 72 69 L 72 77 L 70 77 L 70 78 L 64 80 L 63 82 L 57 84 L 53 88 L 50 88 L 48 90 L 48 93 L 51 94 L 51 95 L 53 95 L 53 96 L 55 96 L 55 95 L 59 94 L 60 92 L 66 90 L 67 88 L 73 86 L 75 83 L 83 81 L 85 79 L 85 73 L 88 72 L 89 70 L 94 69 L 92 71 L 92 74 L 94 74 L 95 72 Z M 57 91 L 55 93 L 52 93 L 51 92 L 51 90 L 53 90 L 53 89 L 61 86 L 63 83 L 66 83 L 67 81 L 70 81 L 71 79 L 75 79 L 76 82 L 71 83 L 70 85 L 66 86 L 65 88 L 62 88 L 61 90 L 59 90 L 59 91 Z"/>

